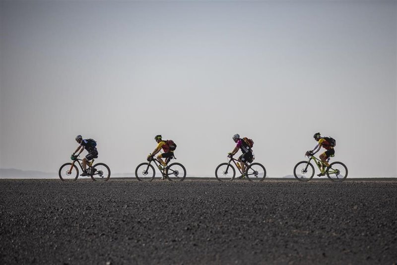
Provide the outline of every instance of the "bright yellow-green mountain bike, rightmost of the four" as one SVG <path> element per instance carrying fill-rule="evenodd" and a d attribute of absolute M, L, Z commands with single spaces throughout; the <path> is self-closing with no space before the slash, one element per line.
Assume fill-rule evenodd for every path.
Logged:
<path fill-rule="evenodd" d="M 342 162 L 333 162 L 329 166 L 325 166 L 324 162 L 312 154 L 308 156 L 308 161 L 301 161 L 294 167 L 294 176 L 299 181 L 310 181 L 315 173 L 314 166 L 310 163 L 312 160 L 314 164 L 319 168 L 322 174 L 326 174 L 331 181 L 341 182 L 347 177 L 347 167 Z M 331 155 L 333 157 L 333 155 Z M 328 158 L 327 162 L 330 161 Z M 322 167 L 323 166 L 323 167 Z"/>

